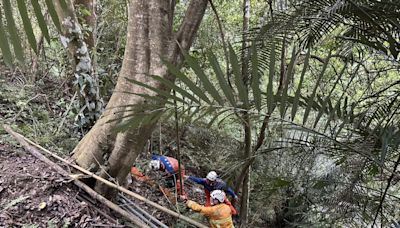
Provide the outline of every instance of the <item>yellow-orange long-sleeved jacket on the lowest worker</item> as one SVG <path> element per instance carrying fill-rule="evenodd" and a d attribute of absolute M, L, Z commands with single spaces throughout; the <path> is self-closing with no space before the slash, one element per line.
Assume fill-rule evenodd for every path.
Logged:
<path fill-rule="evenodd" d="M 225 203 L 205 207 L 188 200 L 186 205 L 192 210 L 198 211 L 202 215 L 208 217 L 211 228 L 235 228 L 233 226 L 231 209 Z"/>

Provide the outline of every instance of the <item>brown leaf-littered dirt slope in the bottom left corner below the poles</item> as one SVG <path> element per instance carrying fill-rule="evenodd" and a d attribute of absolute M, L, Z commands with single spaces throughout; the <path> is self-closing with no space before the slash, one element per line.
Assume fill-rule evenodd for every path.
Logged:
<path fill-rule="evenodd" d="M 0 144 L 0 227 L 124 226 L 46 164 Z"/>

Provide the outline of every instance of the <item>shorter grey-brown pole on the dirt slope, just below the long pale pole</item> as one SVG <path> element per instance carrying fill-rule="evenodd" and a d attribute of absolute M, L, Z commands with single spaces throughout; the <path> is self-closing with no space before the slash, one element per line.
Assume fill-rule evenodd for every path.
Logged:
<path fill-rule="evenodd" d="M 55 164 L 53 161 L 48 159 L 46 156 L 41 154 L 36 148 L 33 146 L 29 145 L 25 137 L 22 135 L 14 132 L 11 130 L 11 128 L 7 125 L 4 125 L 4 129 L 11 134 L 27 151 L 29 151 L 33 156 L 41 160 L 42 162 L 46 163 L 48 166 L 50 166 L 52 169 L 56 170 L 58 173 L 61 175 L 71 178 L 74 181 L 74 184 L 77 185 L 79 188 L 83 189 L 85 192 L 87 192 L 91 197 L 94 199 L 98 200 L 99 202 L 103 203 L 110 209 L 114 210 L 118 214 L 122 215 L 125 217 L 128 221 L 134 223 L 135 225 L 139 227 L 148 227 L 146 224 L 144 224 L 142 221 L 140 221 L 136 216 L 128 213 L 127 211 L 123 210 L 113 202 L 109 201 L 108 199 L 104 198 L 102 195 L 99 195 L 97 192 L 95 192 L 93 189 L 91 189 L 89 186 L 84 184 L 83 182 L 74 179 L 73 176 L 71 176 L 67 171 L 65 171 L 63 168 L 61 168 L 59 165 Z"/>

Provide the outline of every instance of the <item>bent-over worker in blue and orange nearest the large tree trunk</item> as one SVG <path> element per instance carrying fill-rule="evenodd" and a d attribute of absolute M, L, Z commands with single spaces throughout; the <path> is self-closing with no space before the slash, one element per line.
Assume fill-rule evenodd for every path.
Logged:
<path fill-rule="evenodd" d="M 185 167 L 181 164 L 181 173 L 179 174 L 179 163 L 178 160 L 176 160 L 175 158 L 153 153 L 151 159 L 152 160 L 149 163 L 150 168 L 152 170 L 165 172 L 167 174 L 167 187 L 171 188 L 176 186 L 176 190 L 180 195 L 180 198 L 186 199 L 186 193 L 183 184 Z M 180 177 L 182 177 L 182 186 L 180 182 Z"/>

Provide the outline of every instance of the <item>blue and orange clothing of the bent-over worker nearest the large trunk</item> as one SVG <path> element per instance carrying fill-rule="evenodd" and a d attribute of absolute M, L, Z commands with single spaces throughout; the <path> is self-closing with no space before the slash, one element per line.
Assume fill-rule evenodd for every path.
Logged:
<path fill-rule="evenodd" d="M 163 165 L 160 168 L 161 171 L 165 171 L 168 175 L 173 178 L 174 184 L 178 193 L 180 193 L 181 185 L 180 185 L 180 177 L 182 177 L 182 195 L 185 195 L 184 190 L 184 176 L 185 176 L 185 167 L 181 164 L 181 173 L 179 174 L 179 162 L 173 157 L 168 157 L 164 155 L 153 154 L 151 156 L 152 160 L 159 160 Z"/>

